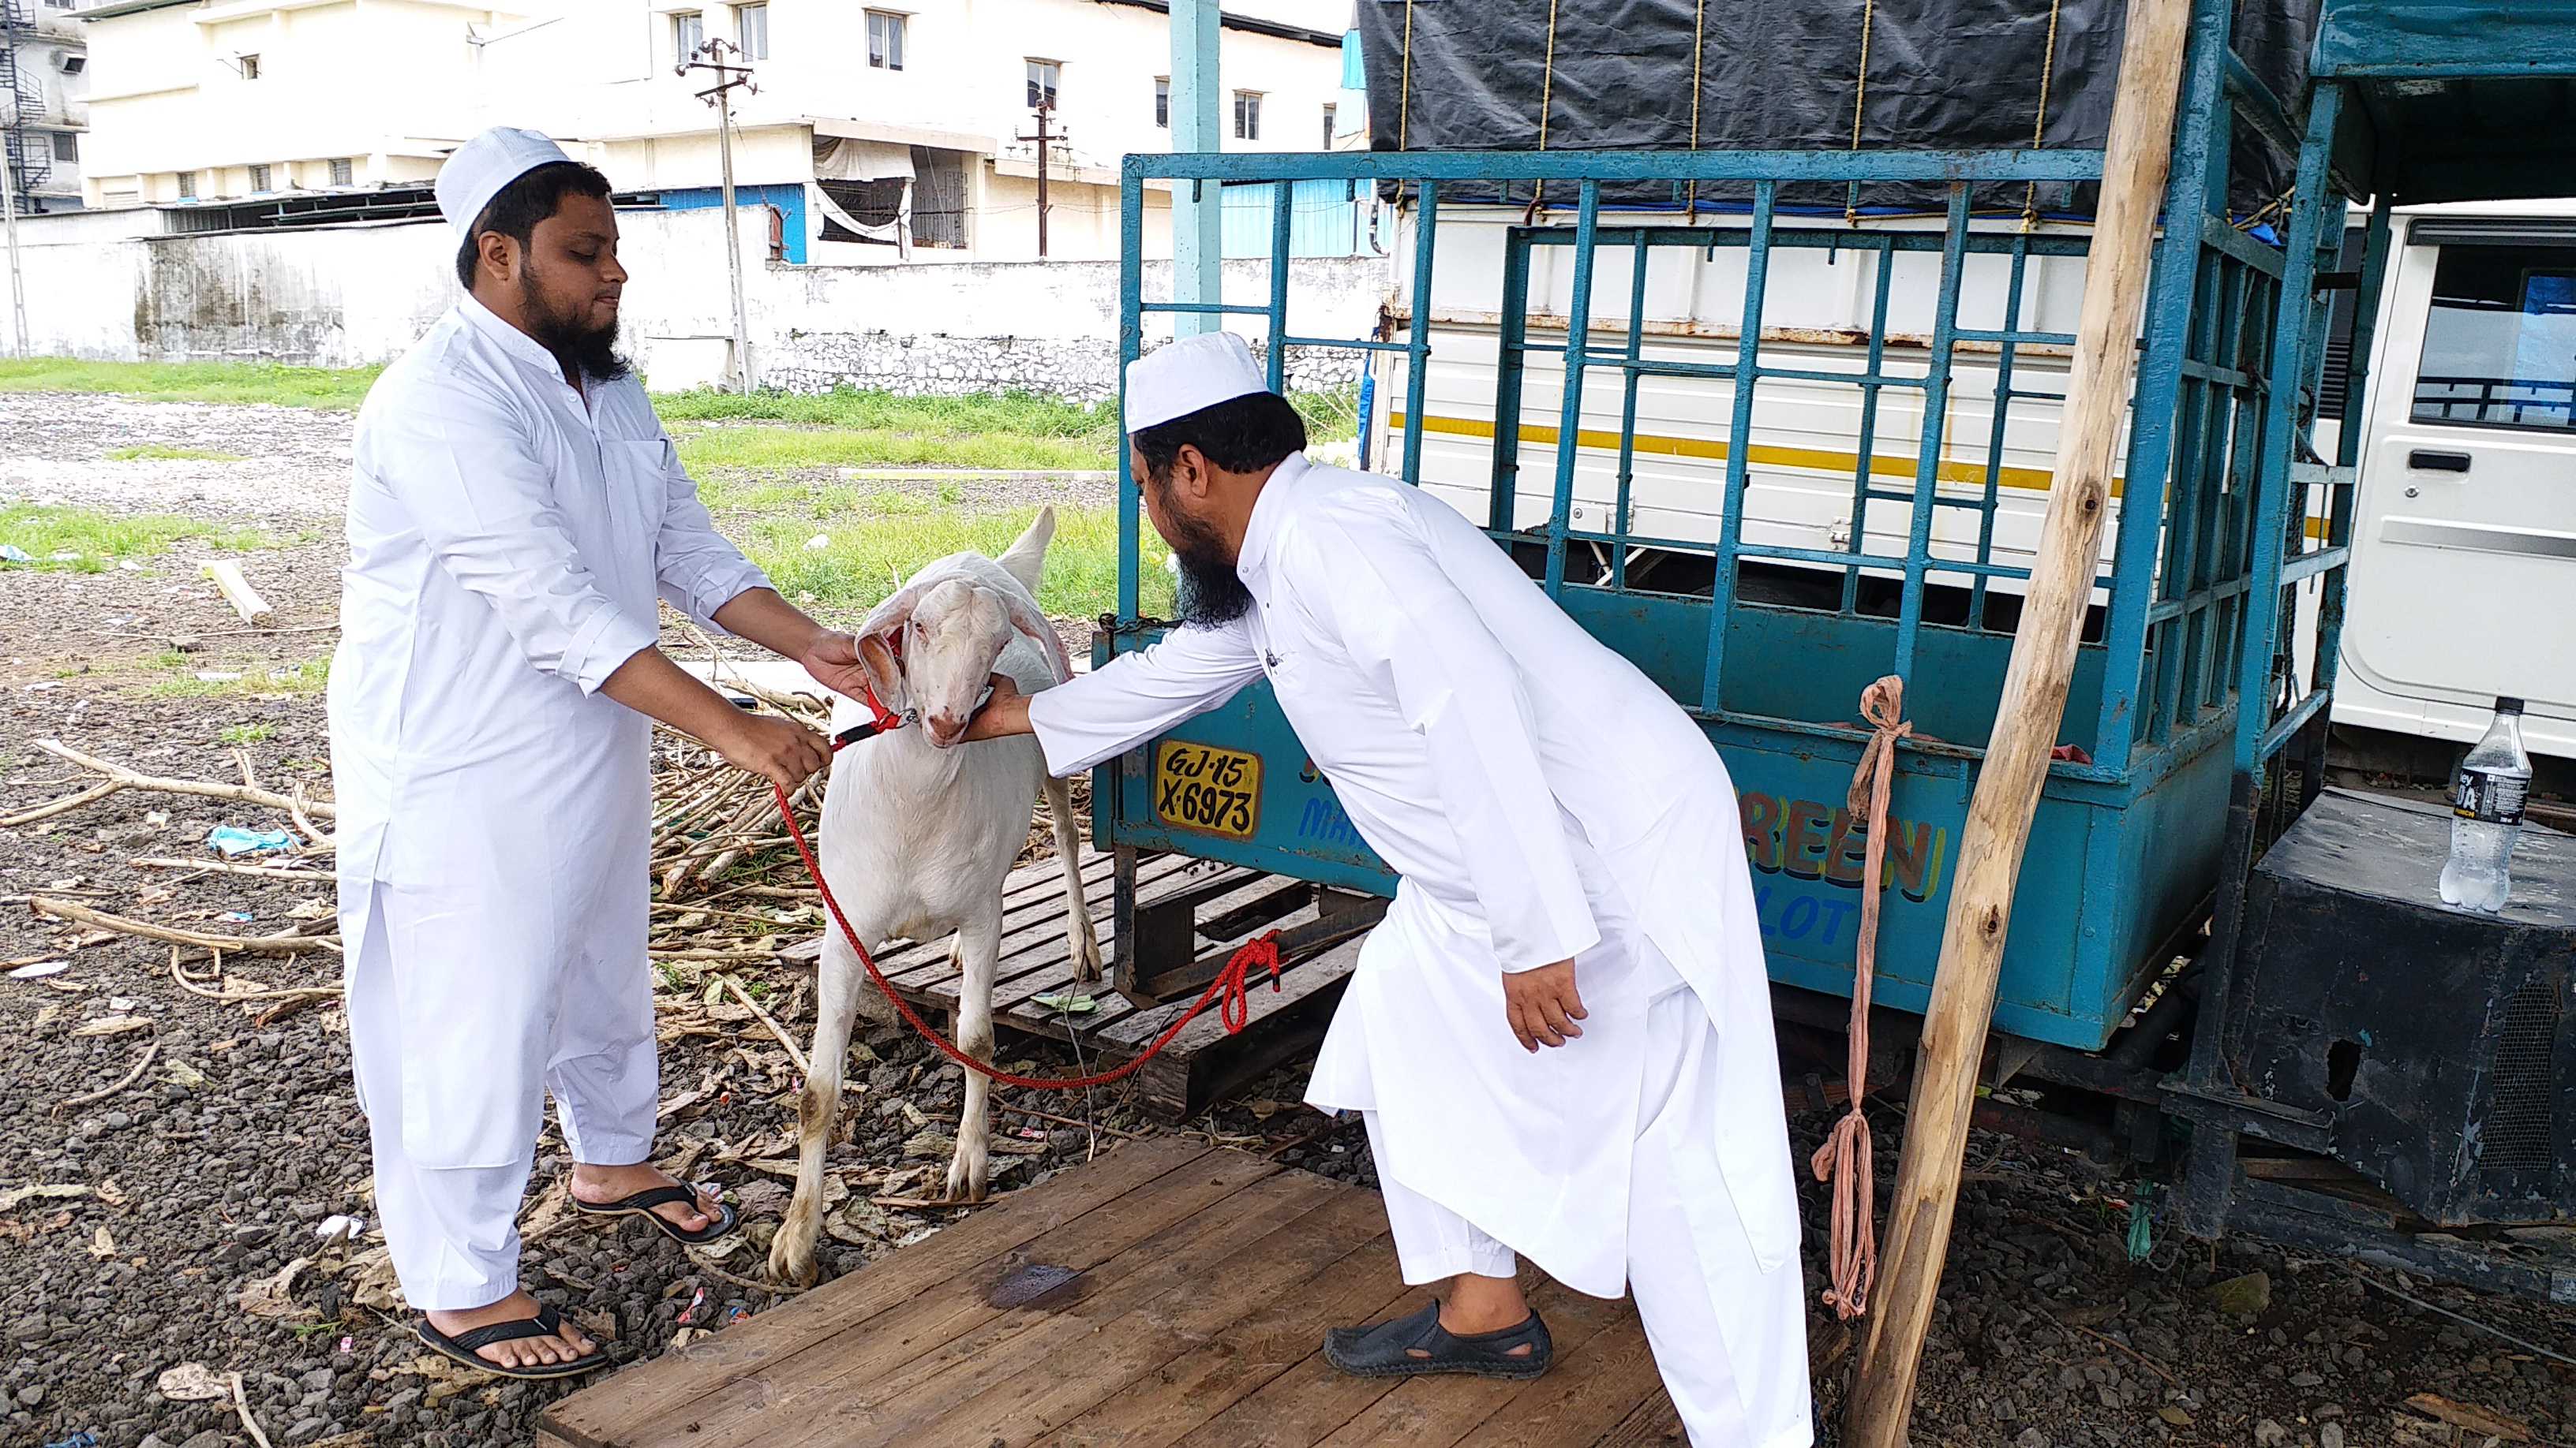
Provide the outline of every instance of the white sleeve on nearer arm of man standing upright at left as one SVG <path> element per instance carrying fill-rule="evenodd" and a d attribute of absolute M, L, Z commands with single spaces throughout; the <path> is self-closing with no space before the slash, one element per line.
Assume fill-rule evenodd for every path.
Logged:
<path fill-rule="evenodd" d="M 598 693 L 659 642 L 582 564 L 526 423 L 471 386 L 422 386 L 386 407 L 376 482 L 402 500 L 430 557 L 500 613 L 528 662 Z"/>

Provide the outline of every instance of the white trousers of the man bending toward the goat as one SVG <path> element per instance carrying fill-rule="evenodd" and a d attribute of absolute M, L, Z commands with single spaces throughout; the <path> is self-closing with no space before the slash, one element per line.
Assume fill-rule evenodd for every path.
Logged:
<path fill-rule="evenodd" d="M 1646 1007 L 1646 1072 L 1628 1177 L 1628 1291 L 1646 1322 L 1664 1391 L 1692 1448 L 1806 1448 L 1816 1440 L 1806 1376 L 1806 1278 L 1790 1260 L 1754 1265 L 1734 1203 L 1716 1183 L 1718 1033 L 1687 989 Z M 1368 1147 L 1378 1147 L 1376 1113 Z M 1386 1226 L 1412 1286 L 1458 1273 L 1510 1278 L 1517 1255 L 1383 1170 Z M 1726 1329 L 1736 1319 L 1736 1332 Z M 1754 1329 L 1744 1329 L 1752 1319 Z M 1728 1350 L 1734 1342 L 1734 1350 Z"/>

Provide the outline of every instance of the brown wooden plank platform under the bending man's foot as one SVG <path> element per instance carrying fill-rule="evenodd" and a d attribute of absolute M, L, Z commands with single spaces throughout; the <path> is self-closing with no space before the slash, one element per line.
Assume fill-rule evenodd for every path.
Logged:
<path fill-rule="evenodd" d="M 1538 1283 L 1533 1384 L 1334 1373 L 1327 1327 L 1412 1311 L 1378 1196 L 1128 1141 L 701 1342 L 582 1389 L 544 1448 L 1316 1448 L 1682 1443 L 1625 1301 Z"/>

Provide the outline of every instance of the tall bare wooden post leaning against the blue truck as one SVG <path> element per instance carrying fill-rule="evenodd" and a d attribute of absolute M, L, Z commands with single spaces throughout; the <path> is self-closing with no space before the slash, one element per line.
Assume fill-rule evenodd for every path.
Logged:
<path fill-rule="evenodd" d="M 2004 698 L 1986 739 L 1950 884 L 1950 920 L 1924 1013 L 1904 1157 L 1880 1250 L 1878 1301 L 1842 1425 L 1852 1448 L 1901 1448 L 1906 1440 L 1914 1373 L 1950 1250 L 1950 1214 L 1958 1206 L 1960 1154 L 1976 1105 L 1976 1064 L 1986 1049 L 1994 982 L 2004 961 L 2012 886 L 2022 871 L 2030 814 L 2048 783 L 2048 755 L 2066 714 L 2066 683 L 2102 557 L 2102 515 L 2128 415 L 2190 13 L 2190 0 L 2128 5 L 2058 466 L 2022 624 L 2012 636 Z M 2197 216 L 2172 219 L 2177 227 L 2195 222 Z M 2146 492 L 2161 487 L 2161 479 L 2130 484 Z"/>

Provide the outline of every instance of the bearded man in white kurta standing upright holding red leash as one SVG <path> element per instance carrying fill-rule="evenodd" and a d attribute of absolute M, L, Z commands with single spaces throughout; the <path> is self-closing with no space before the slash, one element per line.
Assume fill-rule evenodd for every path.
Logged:
<path fill-rule="evenodd" d="M 350 1054 L 422 1337 L 562 1376 L 598 1353 L 518 1291 L 549 1095 L 580 1208 L 680 1239 L 729 1226 L 647 1165 L 652 719 L 781 781 L 824 760 L 811 732 L 665 660 L 659 600 L 835 683 L 855 652 L 716 536 L 616 361 L 608 183 L 544 137 L 487 131 L 438 201 L 466 296 L 358 415 L 330 678 Z"/>

